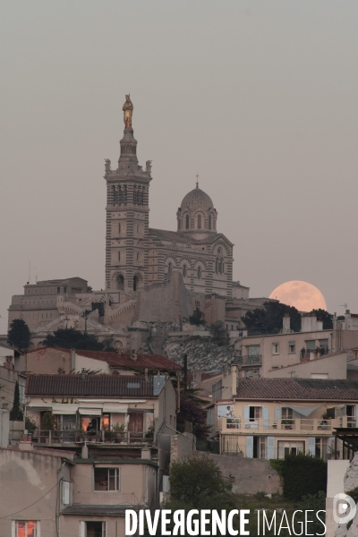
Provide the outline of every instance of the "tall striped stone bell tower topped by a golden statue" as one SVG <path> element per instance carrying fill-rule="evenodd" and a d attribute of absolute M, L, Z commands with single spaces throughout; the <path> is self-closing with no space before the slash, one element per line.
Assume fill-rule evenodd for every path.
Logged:
<path fill-rule="evenodd" d="M 151 161 L 138 165 L 137 141 L 132 130 L 133 105 L 124 103 L 124 137 L 116 170 L 106 160 L 107 230 L 106 290 L 116 295 L 132 294 L 148 285 L 149 183 Z"/>

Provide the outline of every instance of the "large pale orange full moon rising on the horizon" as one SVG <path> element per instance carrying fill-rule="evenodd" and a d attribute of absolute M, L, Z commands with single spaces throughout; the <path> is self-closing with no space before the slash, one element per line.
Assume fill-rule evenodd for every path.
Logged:
<path fill-rule="evenodd" d="M 298 280 L 281 284 L 272 291 L 269 298 L 276 298 L 281 303 L 294 306 L 298 311 L 327 310 L 327 304 L 320 289 Z"/>

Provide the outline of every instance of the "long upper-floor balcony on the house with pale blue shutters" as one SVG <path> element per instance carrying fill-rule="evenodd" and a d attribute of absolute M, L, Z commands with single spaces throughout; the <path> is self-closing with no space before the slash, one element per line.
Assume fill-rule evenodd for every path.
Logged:
<path fill-rule="evenodd" d="M 355 427 L 355 418 L 350 418 L 351 425 L 347 423 L 347 416 L 334 420 L 318 419 L 277 419 L 269 420 L 263 418 L 243 419 L 243 418 L 217 418 L 217 430 L 226 433 L 250 434 L 250 430 L 256 433 L 269 435 L 317 435 L 332 436 L 336 427 Z"/>

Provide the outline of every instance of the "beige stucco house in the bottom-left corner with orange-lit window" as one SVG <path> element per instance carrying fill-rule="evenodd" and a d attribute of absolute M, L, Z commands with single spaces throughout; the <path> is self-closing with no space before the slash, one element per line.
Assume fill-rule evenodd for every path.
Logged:
<path fill-rule="evenodd" d="M 24 442 L 0 447 L 1 535 L 124 535 L 126 509 L 158 508 L 159 465 L 149 448 L 74 455 Z"/>

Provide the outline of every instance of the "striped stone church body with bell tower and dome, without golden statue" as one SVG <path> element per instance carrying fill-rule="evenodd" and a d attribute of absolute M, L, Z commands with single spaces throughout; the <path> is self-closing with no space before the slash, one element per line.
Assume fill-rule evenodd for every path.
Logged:
<path fill-rule="evenodd" d="M 151 162 L 139 166 L 131 128 L 120 141 L 118 167 L 106 161 L 106 289 L 118 302 L 141 287 L 166 282 L 180 272 L 188 291 L 230 298 L 233 243 L 217 233 L 217 210 L 206 192 L 186 194 L 176 213 L 177 229 L 149 227 Z M 118 293 L 119 292 L 119 293 Z"/>

